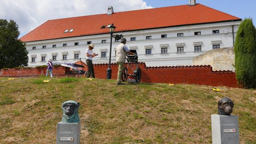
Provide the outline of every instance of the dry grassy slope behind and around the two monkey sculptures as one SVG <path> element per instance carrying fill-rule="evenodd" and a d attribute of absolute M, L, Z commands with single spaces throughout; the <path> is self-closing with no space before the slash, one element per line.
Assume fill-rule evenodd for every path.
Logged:
<path fill-rule="evenodd" d="M 81 144 L 211 144 L 210 115 L 224 96 L 235 103 L 240 143 L 256 144 L 256 103 L 248 99 L 256 98 L 256 90 L 43 80 L 0 78 L 0 144 L 55 144 L 66 100 L 81 103 Z"/>

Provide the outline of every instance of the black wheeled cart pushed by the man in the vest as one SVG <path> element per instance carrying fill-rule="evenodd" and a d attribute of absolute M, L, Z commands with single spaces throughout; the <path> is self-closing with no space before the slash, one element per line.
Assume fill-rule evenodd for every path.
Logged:
<path fill-rule="evenodd" d="M 138 56 L 137 56 L 137 52 L 136 52 L 136 50 L 130 50 L 132 53 L 134 53 L 134 55 L 129 55 L 129 54 L 127 54 L 127 56 L 126 56 L 126 60 L 127 60 L 127 67 L 125 67 L 124 69 L 123 69 L 123 72 L 122 72 L 122 81 L 127 81 L 127 78 L 128 78 L 128 76 L 130 77 L 130 78 L 133 78 L 133 79 L 135 79 L 135 81 L 137 82 L 137 83 L 139 83 L 140 82 L 140 79 L 141 79 L 141 70 L 140 70 L 140 68 L 138 67 Z M 136 70 L 134 70 L 133 69 L 133 67 L 132 67 L 132 64 L 135 64 L 135 66 L 136 66 Z M 130 67 L 131 68 L 131 70 L 132 70 L 132 72 L 133 72 L 133 74 L 128 74 L 128 67 Z"/>

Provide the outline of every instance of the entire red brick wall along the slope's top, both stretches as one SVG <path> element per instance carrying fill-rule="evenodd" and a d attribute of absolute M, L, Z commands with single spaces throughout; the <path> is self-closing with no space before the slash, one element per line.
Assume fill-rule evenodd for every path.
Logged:
<path fill-rule="evenodd" d="M 127 67 L 127 64 L 125 64 Z M 210 86 L 227 86 L 238 87 L 236 74 L 231 71 L 212 71 L 210 65 L 200 66 L 161 66 L 161 67 L 146 67 L 145 63 L 138 63 L 141 69 L 141 81 L 148 83 L 187 83 Z M 98 79 L 106 79 L 108 64 L 94 64 L 95 77 Z M 111 63 L 111 79 L 117 79 L 117 63 Z M 136 70 L 135 64 L 133 69 Z M 67 76 L 70 68 L 55 67 L 53 74 L 55 76 Z M 128 68 L 128 73 L 132 70 Z M 0 76 L 36 76 L 45 75 L 45 69 L 9 69 L 1 70 Z M 71 75 L 78 76 L 78 75 Z"/>

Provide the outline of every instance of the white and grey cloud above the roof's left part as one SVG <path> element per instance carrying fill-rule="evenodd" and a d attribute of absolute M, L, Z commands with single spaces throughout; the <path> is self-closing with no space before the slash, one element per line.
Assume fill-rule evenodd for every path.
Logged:
<path fill-rule="evenodd" d="M 1 0 L 0 18 L 16 21 L 24 36 L 49 19 L 107 13 L 108 6 L 114 12 L 152 8 L 143 0 Z"/>

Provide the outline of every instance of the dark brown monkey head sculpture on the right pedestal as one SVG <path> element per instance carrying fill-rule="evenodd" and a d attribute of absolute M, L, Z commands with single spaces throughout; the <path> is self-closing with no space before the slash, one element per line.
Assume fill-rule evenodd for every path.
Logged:
<path fill-rule="evenodd" d="M 230 116 L 233 111 L 233 107 L 233 101 L 227 97 L 224 97 L 218 102 L 218 114 L 223 116 Z"/>

